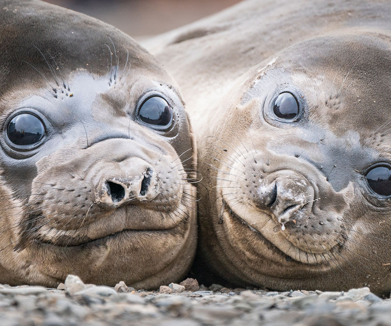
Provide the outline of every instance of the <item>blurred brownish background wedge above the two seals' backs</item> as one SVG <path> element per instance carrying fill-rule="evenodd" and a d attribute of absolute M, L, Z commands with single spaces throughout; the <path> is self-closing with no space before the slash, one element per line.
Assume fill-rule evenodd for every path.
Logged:
<path fill-rule="evenodd" d="M 159 34 L 240 0 L 45 0 L 114 25 L 133 38 Z"/>

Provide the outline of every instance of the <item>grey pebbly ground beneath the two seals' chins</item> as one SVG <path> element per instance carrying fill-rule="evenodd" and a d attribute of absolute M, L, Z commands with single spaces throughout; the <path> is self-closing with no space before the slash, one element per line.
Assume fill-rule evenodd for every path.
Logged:
<path fill-rule="evenodd" d="M 369 288 L 348 292 L 266 292 L 206 288 L 187 279 L 160 291 L 85 285 L 68 276 L 57 289 L 0 286 L 2 326 L 391 325 L 391 300 Z"/>

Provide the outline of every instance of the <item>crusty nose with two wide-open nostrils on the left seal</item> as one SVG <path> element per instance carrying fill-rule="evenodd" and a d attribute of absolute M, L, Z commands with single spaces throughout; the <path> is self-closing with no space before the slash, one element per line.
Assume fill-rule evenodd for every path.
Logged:
<path fill-rule="evenodd" d="M 103 178 L 96 195 L 96 203 L 104 208 L 115 208 L 126 203 L 151 201 L 159 194 L 155 171 L 147 168 L 132 177 Z"/>

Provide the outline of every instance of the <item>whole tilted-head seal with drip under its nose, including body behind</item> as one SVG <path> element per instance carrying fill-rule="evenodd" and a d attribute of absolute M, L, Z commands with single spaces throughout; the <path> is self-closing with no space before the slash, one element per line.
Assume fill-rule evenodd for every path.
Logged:
<path fill-rule="evenodd" d="M 390 14 L 385 2 L 248 1 L 146 43 L 181 86 L 210 177 L 204 274 L 389 294 Z"/>

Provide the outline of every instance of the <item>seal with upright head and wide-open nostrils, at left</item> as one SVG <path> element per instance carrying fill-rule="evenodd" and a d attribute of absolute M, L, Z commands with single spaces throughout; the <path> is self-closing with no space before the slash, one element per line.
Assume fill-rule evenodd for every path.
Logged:
<path fill-rule="evenodd" d="M 0 7 L 0 282 L 179 281 L 196 247 L 196 161 L 172 80 L 96 19 Z"/>

